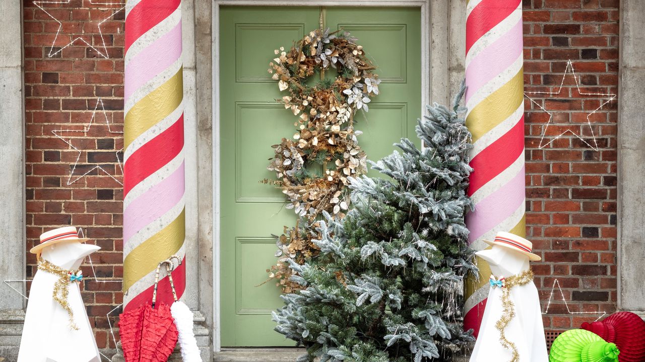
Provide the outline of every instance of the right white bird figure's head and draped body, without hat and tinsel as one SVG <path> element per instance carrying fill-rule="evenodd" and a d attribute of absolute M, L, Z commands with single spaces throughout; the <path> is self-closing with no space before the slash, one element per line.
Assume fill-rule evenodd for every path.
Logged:
<path fill-rule="evenodd" d="M 508 278 L 520 274 L 529 268 L 528 256 L 515 252 L 508 247 L 493 245 L 491 249 L 478 251 L 477 254 L 486 260 L 495 277 Z M 519 362 L 548 362 L 546 340 L 542 325 L 542 310 L 535 284 L 518 285 L 510 291 L 511 301 L 515 305 L 515 318 L 506 327 L 506 338 L 515 343 L 519 352 Z M 479 336 L 470 357 L 470 362 L 508 362 L 511 351 L 502 347 L 499 341 L 499 330 L 495 323 L 502 316 L 502 289 L 491 288 Z"/>

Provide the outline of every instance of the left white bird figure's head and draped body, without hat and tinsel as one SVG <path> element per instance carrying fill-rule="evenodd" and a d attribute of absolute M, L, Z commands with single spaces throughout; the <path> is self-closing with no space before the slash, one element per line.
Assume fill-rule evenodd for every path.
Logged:
<path fill-rule="evenodd" d="M 41 258 L 66 270 L 79 269 L 96 245 L 64 242 L 43 249 Z M 37 271 L 30 289 L 18 362 L 101 362 L 78 283 L 68 285 L 67 301 L 79 330 L 70 330 L 67 312 L 52 298 L 58 276 Z"/>

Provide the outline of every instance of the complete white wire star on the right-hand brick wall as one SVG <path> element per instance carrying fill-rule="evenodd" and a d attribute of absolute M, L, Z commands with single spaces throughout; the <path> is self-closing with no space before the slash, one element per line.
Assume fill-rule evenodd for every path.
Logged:
<path fill-rule="evenodd" d="M 566 76 L 567 76 L 567 74 L 569 72 L 571 72 L 571 75 L 573 76 L 573 79 L 575 80 L 575 88 L 578 90 L 578 93 L 580 95 L 595 96 L 597 98 L 603 99 L 600 102 L 600 106 L 587 115 L 587 125 L 589 126 L 589 129 L 591 130 L 591 138 L 593 139 L 593 145 L 590 144 L 589 142 L 587 142 L 586 140 L 584 140 L 584 138 L 582 138 L 580 135 L 577 135 L 575 132 L 571 131 L 571 129 L 564 130 L 562 133 L 560 133 L 559 135 L 554 137 L 552 140 L 550 140 L 549 142 L 546 142 L 546 144 L 544 143 L 544 137 L 546 136 L 546 133 L 547 133 L 547 131 L 549 129 L 549 126 L 551 125 L 551 120 L 553 120 L 553 114 L 550 111 L 546 110 L 544 107 L 542 107 L 541 104 L 539 104 L 534 99 L 532 99 L 530 97 L 530 95 L 551 95 L 551 96 L 559 95 L 562 92 L 562 86 L 564 86 L 564 79 L 566 78 Z M 558 138 L 562 137 L 565 133 L 571 133 L 571 135 L 574 135 L 575 137 L 580 138 L 580 140 L 582 142 L 584 142 L 584 144 L 586 144 L 587 146 L 592 148 L 594 151 L 598 151 L 598 143 L 596 142 L 596 137 L 593 134 L 593 128 L 591 128 L 591 120 L 589 119 L 589 117 L 591 117 L 591 115 L 593 115 L 594 113 L 599 111 L 602 108 L 602 106 L 604 106 L 605 104 L 608 104 L 609 102 L 614 100 L 616 98 L 616 95 L 613 94 L 613 93 L 584 93 L 584 92 L 582 92 L 580 90 L 580 83 L 578 82 L 578 78 L 575 75 L 575 70 L 573 70 L 573 64 L 571 63 L 571 60 L 569 60 L 567 62 L 567 64 L 566 64 L 566 69 L 564 70 L 564 74 L 562 75 L 562 82 L 560 83 L 560 88 L 558 88 L 557 91 L 525 91 L 524 92 L 524 97 L 528 98 L 531 101 L 531 103 L 535 104 L 536 106 L 541 108 L 542 111 L 545 111 L 549 115 L 549 120 L 546 123 L 546 128 L 544 128 L 544 133 L 542 133 L 542 138 L 540 138 L 540 145 L 538 146 L 539 149 L 545 148 L 546 146 L 550 145 L 551 143 L 553 143 L 553 141 L 555 141 Z"/>

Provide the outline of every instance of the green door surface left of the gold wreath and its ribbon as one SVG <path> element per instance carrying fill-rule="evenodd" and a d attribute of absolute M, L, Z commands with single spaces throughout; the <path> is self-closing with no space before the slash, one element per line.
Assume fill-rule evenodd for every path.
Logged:
<path fill-rule="evenodd" d="M 220 8 L 221 341 L 224 347 L 293 346 L 273 331 L 282 304 L 275 283 L 262 284 L 275 263 L 283 225 L 295 224 L 268 171 L 271 146 L 293 135 L 290 112 L 268 73 L 273 50 L 291 46 L 319 23 L 319 8 Z M 259 285 L 259 286 L 257 286 Z"/>

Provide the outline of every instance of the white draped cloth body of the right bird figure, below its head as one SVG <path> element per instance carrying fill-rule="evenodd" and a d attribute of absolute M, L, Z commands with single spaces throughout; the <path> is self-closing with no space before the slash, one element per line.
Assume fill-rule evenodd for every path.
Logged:
<path fill-rule="evenodd" d="M 506 326 L 505 334 L 506 339 L 515 343 L 519 353 L 517 362 L 548 362 L 542 311 L 535 284 L 512 287 L 510 300 L 515 306 L 515 318 Z M 500 332 L 495 327 L 502 315 L 502 289 L 491 287 L 470 362 L 511 361 L 512 351 L 502 346 Z"/>

